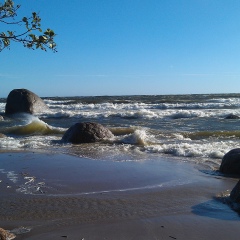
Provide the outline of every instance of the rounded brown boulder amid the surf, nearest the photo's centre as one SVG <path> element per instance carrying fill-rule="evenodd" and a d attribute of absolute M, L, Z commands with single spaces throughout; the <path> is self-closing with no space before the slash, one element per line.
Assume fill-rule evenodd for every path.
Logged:
<path fill-rule="evenodd" d="M 71 143 L 93 143 L 112 138 L 112 132 L 99 123 L 83 122 L 71 126 L 62 140 Z"/>

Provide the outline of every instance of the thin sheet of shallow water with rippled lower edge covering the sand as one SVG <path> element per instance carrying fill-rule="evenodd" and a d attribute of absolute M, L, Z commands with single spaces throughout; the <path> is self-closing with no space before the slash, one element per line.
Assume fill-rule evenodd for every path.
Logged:
<path fill-rule="evenodd" d="M 85 210 L 90 219 L 92 214 L 172 214 L 189 211 L 237 181 L 168 159 L 114 162 L 29 152 L 0 156 L 0 219 L 65 219 L 81 217 Z"/>

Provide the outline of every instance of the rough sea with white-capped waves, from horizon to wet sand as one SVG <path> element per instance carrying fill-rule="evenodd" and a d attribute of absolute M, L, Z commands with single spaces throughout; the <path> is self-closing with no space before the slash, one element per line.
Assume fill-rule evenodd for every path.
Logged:
<path fill-rule="evenodd" d="M 141 161 L 169 157 L 217 169 L 225 153 L 240 147 L 240 94 L 43 98 L 49 111 L 5 116 L 0 99 L 1 150 L 46 150 L 92 159 Z M 63 143 L 77 122 L 98 122 L 114 138 Z"/>

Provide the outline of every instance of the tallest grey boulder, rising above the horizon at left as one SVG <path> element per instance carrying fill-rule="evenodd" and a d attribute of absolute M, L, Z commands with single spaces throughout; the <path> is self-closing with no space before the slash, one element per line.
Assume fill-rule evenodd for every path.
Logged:
<path fill-rule="evenodd" d="M 8 97 L 5 107 L 6 114 L 24 113 L 41 113 L 48 110 L 48 106 L 35 93 L 27 89 L 14 89 Z"/>

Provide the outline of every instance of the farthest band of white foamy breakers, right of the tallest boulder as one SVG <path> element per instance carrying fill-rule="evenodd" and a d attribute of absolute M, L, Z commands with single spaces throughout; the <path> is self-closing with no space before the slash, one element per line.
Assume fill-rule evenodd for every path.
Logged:
<path fill-rule="evenodd" d="M 195 118 L 223 117 L 226 111 L 240 114 L 239 110 L 222 109 L 222 103 L 182 103 L 182 104 L 145 104 L 145 103 L 98 103 L 98 104 L 59 104 L 49 106 L 50 111 L 40 116 L 45 117 L 74 117 L 74 118 Z M 229 108 L 229 105 L 226 105 Z"/>

